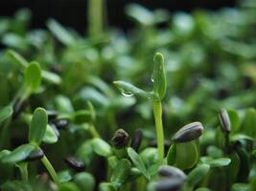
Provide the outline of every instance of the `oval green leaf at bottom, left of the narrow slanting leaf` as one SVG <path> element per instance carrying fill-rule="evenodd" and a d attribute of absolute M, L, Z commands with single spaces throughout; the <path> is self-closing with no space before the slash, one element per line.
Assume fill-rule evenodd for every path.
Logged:
<path fill-rule="evenodd" d="M 130 167 L 128 159 L 119 160 L 110 177 L 111 183 L 116 187 L 120 187 L 125 183 L 129 176 Z"/>

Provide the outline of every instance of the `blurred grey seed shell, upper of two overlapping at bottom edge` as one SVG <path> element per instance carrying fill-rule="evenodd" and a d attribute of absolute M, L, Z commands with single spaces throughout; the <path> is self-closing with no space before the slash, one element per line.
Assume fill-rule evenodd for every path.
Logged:
<path fill-rule="evenodd" d="M 162 178 L 170 178 L 170 179 L 179 179 L 179 180 L 186 180 L 186 174 L 181 171 L 180 169 L 169 166 L 169 165 L 161 165 L 158 169 L 158 174 Z"/>

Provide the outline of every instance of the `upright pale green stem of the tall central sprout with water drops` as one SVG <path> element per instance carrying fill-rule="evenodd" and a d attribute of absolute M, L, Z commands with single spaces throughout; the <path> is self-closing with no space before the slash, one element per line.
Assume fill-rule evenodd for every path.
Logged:
<path fill-rule="evenodd" d="M 162 122 L 162 104 L 160 101 L 153 102 L 153 116 L 157 137 L 157 149 L 159 156 L 159 163 L 163 163 L 164 160 L 164 131 Z"/>

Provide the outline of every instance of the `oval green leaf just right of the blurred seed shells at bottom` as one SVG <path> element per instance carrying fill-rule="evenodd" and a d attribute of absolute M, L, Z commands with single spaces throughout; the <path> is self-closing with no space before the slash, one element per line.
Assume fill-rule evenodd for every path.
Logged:
<path fill-rule="evenodd" d="M 208 164 L 199 164 L 193 171 L 191 171 L 188 175 L 188 183 L 195 187 L 198 183 L 203 180 L 210 170 L 210 166 Z"/>

